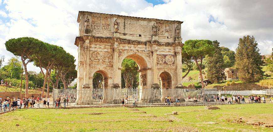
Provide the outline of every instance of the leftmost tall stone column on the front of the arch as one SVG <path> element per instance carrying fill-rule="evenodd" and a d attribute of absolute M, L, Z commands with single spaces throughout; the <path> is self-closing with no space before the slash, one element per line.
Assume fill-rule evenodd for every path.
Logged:
<path fill-rule="evenodd" d="M 83 78 L 83 89 L 89 89 L 89 40 L 85 40 L 84 43 L 84 78 Z"/>

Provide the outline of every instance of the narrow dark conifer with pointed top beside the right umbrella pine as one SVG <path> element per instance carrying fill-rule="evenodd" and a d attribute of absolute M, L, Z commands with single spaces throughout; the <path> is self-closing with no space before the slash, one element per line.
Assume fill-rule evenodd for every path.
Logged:
<path fill-rule="evenodd" d="M 213 41 L 213 45 L 215 48 L 214 54 L 211 57 L 206 57 L 206 78 L 210 80 L 211 83 L 219 83 L 225 78 L 225 74 L 223 73 L 224 60 L 219 44 L 220 43 L 217 40 Z"/>

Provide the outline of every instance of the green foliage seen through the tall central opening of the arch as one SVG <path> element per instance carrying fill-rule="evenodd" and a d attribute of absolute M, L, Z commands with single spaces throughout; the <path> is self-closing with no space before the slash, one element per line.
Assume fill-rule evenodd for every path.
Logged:
<path fill-rule="evenodd" d="M 121 69 L 121 78 L 122 82 L 121 87 L 126 88 L 136 88 L 139 84 L 139 74 L 138 74 L 138 65 L 132 59 L 125 58 L 122 61 Z"/>

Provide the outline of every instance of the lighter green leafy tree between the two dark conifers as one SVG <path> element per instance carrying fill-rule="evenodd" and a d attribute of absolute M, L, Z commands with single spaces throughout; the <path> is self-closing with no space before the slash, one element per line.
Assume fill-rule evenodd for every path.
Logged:
<path fill-rule="evenodd" d="M 225 68 L 232 67 L 235 64 L 235 52 L 227 47 L 220 47 L 223 55 Z"/>

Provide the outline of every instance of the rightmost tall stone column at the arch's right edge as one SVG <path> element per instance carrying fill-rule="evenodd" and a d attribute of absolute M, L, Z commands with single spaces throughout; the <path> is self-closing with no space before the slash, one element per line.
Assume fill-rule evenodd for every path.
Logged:
<path fill-rule="evenodd" d="M 175 47 L 175 53 L 176 53 L 176 87 L 182 86 L 182 56 L 181 56 L 181 47 L 176 46 Z"/>

